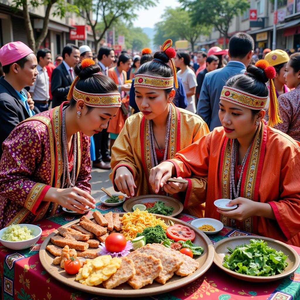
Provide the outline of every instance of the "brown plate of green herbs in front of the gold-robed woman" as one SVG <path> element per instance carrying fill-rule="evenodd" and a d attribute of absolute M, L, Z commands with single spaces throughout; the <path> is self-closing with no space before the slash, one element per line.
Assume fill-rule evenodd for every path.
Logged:
<path fill-rule="evenodd" d="M 147 203 L 154 203 L 153 207 L 146 208 L 152 214 L 161 214 L 163 216 L 175 217 L 183 210 L 182 203 L 172 197 L 164 195 L 143 195 L 128 199 L 123 204 L 123 209 L 126 212 L 133 211 L 133 206 L 136 204 L 146 205 Z"/>

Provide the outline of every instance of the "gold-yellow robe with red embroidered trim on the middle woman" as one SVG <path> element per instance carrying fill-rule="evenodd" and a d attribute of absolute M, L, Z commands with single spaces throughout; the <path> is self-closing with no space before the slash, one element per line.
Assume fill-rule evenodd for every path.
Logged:
<path fill-rule="evenodd" d="M 209 132 L 206 123 L 197 115 L 187 110 L 172 107 L 171 130 L 167 158 L 173 158 L 179 150 L 189 146 Z M 124 125 L 119 137 L 112 148 L 111 167 L 113 172 L 110 179 L 114 183 L 116 170 L 121 166 L 127 167 L 137 186 L 135 196 L 154 194 L 149 184 L 149 174 L 152 169 L 150 158 L 150 139 L 147 121 L 142 113 L 130 116 Z M 115 190 L 118 190 L 114 184 Z M 161 192 L 160 192 L 161 193 Z M 164 193 L 165 194 L 165 193 Z M 188 179 L 186 193 L 173 195 L 182 202 L 198 201 L 198 205 L 189 211 L 189 214 L 204 215 L 206 194 L 206 179 L 194 176 Z M 184 206 L 184 208 L 187 208 Z"/>

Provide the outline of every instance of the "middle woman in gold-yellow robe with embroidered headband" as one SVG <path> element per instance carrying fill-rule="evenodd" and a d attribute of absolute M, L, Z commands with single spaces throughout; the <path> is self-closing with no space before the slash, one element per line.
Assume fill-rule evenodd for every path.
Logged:
<path fill-rule="evenodd" d="M 126 120 L 112 148 L 110 179 L 115 190 L 128 196 L 154 193 L 148 180 L 151 168 L 164 159 L 173 158 L 180 149 L 209 132 L 199 116 L 172 104 L 175 96 L 173 74 L 176 76 L 176 72 L 167 65 L 170 58 L 166 52 L 156 52 L 153 61 L 137 70 L 134 87 L 141 112 Z M 195 176 L 188 179 L 187 184 L 169 182 L 159 193 L 174 195 L 182 201 L 197 198 L 204 202 L 205 189 L 206 179 Z M 204 205 L 188 213 L 203 216 Z"/>

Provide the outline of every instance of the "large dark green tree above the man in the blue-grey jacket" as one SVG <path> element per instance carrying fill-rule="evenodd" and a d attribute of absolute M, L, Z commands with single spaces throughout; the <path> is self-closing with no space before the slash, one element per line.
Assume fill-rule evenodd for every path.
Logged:
<path fill-rule="evenodd" d="M 179 0 L 190 11 L 193 24 L 214 26 L 226 39 L 230 22 L 249 7 L 248 0 Z M 226 43 L 224 43 L 226 46 Z"/>

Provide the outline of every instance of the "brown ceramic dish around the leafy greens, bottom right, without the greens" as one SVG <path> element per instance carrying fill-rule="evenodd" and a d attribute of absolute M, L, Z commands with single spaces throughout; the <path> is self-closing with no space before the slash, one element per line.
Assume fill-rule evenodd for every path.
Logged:
<path fill-rule="evenodd" d="M 252 238 L 262 239 L 268 243 L 269 247 L 274 248 L 277 251 L 281 250 L 285 255 L 288 255 L 286 261 L 289 263 L 289 265 L 284 269 L 284 271 L 281 274 L 277 274 L 274 276 L 251 276 L 231 271 L 223 266 L 224 256 L 226 254 L 229 254 L 227 247 L 234 249 L 238 245 L 250 244 L 250 239 Z M 292 247 L 290 247 L 287 244 L 284 244 L 283 242 L 276 241 L 272 238 L 265 238 L 261 236 L 247 235 L 224 238 L 214 244 L 214 250 L 214 263 L 221 270 L 235 278 L 250 282 L 268 282 L 281 279 L 294 273 L 298 268 L 300 262 L 299 255 Z"/>

